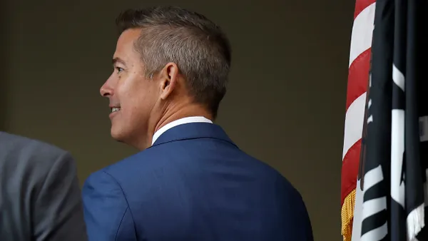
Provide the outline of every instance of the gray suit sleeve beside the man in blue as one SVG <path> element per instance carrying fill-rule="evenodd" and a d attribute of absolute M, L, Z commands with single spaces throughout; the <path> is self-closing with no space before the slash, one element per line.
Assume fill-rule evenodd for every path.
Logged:
<path fill-rule="evenodd" d="M 59 155 L 35 197 L 34 235 L 37 241 L 86 241 L 81 190 L 76 163 Z"/>

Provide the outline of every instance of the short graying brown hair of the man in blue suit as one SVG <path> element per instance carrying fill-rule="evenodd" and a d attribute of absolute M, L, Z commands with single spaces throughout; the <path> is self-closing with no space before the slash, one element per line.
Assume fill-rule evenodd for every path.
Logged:
<path fill-rule="evenodd" d="M 121 34 L 143 29 L 135 43 L 146 76 L 176 63 L 185 76 L 189 93 L 215 117 L 225 96 L 230 70 L 230 43 L 205 16 L 175 6 L 128 9 L 116 19 Z"/>

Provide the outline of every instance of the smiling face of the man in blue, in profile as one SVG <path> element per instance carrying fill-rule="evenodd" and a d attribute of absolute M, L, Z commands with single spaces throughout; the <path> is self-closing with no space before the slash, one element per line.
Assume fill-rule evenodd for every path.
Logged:
<path fill-rule="evenodd" d="M 147 134 L 148 118 L 158 100 L 156 81 L 146 78 L 134 47 L 140 34 L 141 29 L 121 34 L 113 55 L 113 73 L 100 91 L 110 100 L 111 136 L 124 143 L 135 143 Z"/>

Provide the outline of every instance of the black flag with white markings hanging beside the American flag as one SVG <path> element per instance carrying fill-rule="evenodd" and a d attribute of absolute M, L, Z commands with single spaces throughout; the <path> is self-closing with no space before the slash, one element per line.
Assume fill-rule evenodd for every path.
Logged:
<path fill-rule="evenodd" d="M 427 34 L 427 0 L 376 1 L 360 241 L 428 240 Z"/>

